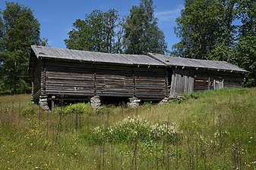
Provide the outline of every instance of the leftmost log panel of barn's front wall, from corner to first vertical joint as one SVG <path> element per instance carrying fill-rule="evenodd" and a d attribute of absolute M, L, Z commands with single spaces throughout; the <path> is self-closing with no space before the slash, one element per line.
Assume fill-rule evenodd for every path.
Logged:
<path fill-rule="evenodd" d="M 45 62 L 45 94 L 93 96 L 92 64 Z"/>

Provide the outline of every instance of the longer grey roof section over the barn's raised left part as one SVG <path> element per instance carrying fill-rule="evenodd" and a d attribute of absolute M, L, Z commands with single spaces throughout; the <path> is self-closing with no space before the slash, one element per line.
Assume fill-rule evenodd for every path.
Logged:
<path fill-rule="evenodd" d="M 155 60 L 147 55 L 134 54 L 109 54 L 91 51 L 78 51 L 64 48 L 52 48 L 42 46 L 31 46 L 36 57 L 63 60 L 81 60 L 96 63 L 121 63 L 127 65 L 147 65 L 147 66 L 166 66 L 159 60 Z"/>

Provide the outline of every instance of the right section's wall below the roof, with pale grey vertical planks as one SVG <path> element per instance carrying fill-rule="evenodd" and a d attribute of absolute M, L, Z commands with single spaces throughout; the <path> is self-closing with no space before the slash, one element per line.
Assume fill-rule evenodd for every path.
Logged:
<path fill-rule="evenodd" d="M 243 87 L 243 85 L 242 73 L 174 69 L 170 96 L 191 93 L 192 91 L 216 90 L 223 87 L 237 88 Z"/>

